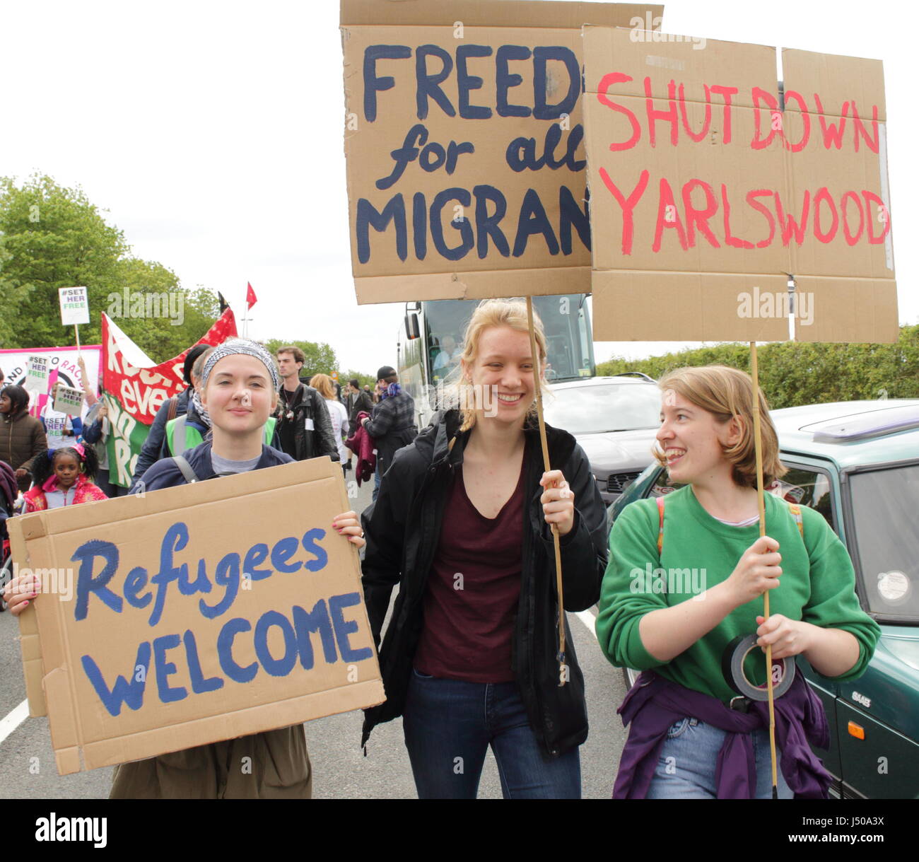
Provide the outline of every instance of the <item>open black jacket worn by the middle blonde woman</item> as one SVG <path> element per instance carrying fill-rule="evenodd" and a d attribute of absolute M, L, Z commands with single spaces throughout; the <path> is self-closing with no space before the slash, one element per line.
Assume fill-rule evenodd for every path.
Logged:
<path fill-rule="evenodd" d="M 400 584 L 390 625 L 380 648 L 386 702 L 368 709 L 361 744 L 373 727 L 403 714 L 414 652 L 423 620 L 427 574 L 437 550 L 450 475 L 462 463 L 468 432 L 460 434 L 459 414 L 425 428 L 411 446 L 400 449 L 380 484 L 377 502 L 361 516 L 367 539 L 363 562 L 364 596 L 376 642 Z M 574 493 L 574 527 L 562 537 L 562 589 L 568 611 L 594 605 L 607 567 L 607 516 L 584 451 L 568 432 L 546 426 L 552 469 L 561 470 Z M 570 633 L 566 660 L 570 681 L 559 686 L 558 599 L 555 556 L 539 496 L 542 456 L 539 431 L 526 430 L 523 574 L 513 640 L 513 670 L 530 726 L 549 754 L 563 754 L 587 738 L 584 675 Z M 471 540 L 474 540 L 471 537 Z M 567 631 L 567 623 L 566 623 Z"/>

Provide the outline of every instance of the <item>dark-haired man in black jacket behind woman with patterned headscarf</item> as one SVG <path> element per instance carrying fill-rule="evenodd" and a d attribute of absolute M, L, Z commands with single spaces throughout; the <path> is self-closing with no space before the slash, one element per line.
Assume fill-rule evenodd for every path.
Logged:
<path fill-rule="evenodd" d="M 278 370 L 283 380 L 276 414 L 280 447 L 298 461 L 323 455 L 337 461 L 338 447 L 325 400 L 300 380 L 305 358 L 297 346 L 278 350 Z"/>

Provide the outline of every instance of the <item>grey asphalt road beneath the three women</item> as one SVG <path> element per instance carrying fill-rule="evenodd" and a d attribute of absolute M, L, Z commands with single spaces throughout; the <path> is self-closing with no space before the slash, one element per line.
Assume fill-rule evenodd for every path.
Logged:
<path fill-rule="evenodd" d="M 357 489 L 358 511 L 370 502 L 370 486 Z M 590 735 L 581 746 L 584 798 L 612 794 L 619 753 L 625 742 L 616 708 L 625 696 L 621 672 L 607 663 L 592 629 L 569 615 L 574 647 L 584 671 Z M 0 720 L 25 699 L 18 623 L 0 614 Z M 365 757 L 359 748 L 363 715 L 359 710 L 308 721 L 306 738 L 316 799 L 414 799 L 414 781 L 403 743 L 402 720 L 379 725 Z M 2 735 L 2 732 L 0 732 Z M 0 743 L 0 799 L 105 799 L 111 768 L 61 777 L 57 774 L 46 718 L 28 718 Z M 500 799 L 501 784 L 489 752 L 482 770 L 480 799 Z"/>

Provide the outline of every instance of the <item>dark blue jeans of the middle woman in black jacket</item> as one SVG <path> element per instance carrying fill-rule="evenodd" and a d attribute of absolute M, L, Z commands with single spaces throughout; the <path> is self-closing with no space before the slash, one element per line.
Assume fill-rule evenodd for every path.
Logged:
<path fill-rule="evenodd" d="M 581 798 L 573 748 L 544 754 L 515 683 L 467 683 L 413 671 L 403 715 L 418 799 L 474 800 L 492 746 L 505 800 Z"/>

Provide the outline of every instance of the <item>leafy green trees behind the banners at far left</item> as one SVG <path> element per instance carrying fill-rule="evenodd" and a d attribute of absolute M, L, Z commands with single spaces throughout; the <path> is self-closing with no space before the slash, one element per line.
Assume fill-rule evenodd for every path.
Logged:
<path fill-rule="evenodd" d="M 0 346 L 74 344 L 57 289 L 78 285 L 90 308 L 81 341 L 101 340 L 100 312 L 107 312 L 155 362 L 194 344 L 219 314 L 210 290 L 184 289 L 168 267 L 131 256 L 124 235 L 81 188 L 50 176 L 31 176 L 21 187 L 0 178 Z"/>

